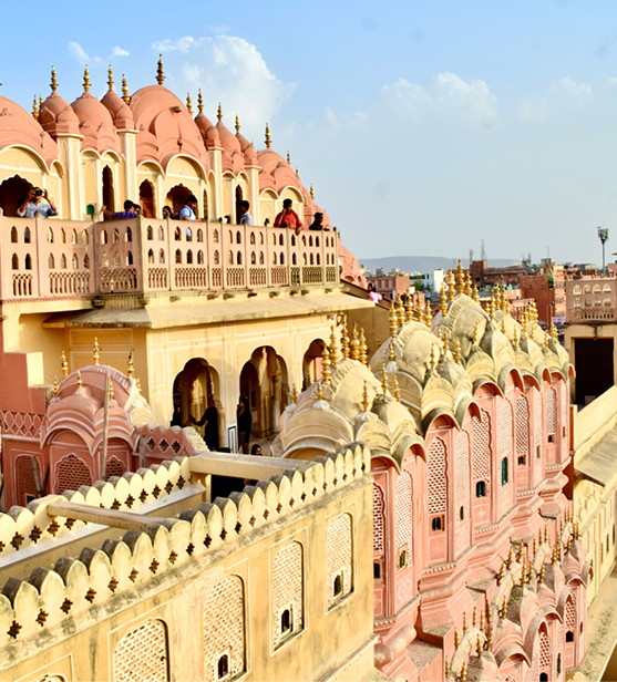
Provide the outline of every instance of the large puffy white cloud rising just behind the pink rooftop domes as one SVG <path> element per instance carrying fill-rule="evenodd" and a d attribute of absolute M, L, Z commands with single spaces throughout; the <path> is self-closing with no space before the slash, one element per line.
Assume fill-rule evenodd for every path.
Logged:
<path fill-rule="evenodd" d="M 232 127 L 238 114 L 241 132 L 249 140 L 261 137 L 266 122 L 271 125 L 272 115 L 296 87 L 277 79 L 257 48 L 244 38 L 185 35 L 152 46 L 166 53 L 165 73 L 173 90 L 196 92 L 200 87 L 208 117 L 214 118 L 220 102 L 226 125 Z"/>

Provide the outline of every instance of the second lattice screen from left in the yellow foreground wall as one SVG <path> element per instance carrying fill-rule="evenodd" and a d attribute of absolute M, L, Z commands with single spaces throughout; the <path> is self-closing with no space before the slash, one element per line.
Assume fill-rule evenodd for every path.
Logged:
<path fill-rule="evenodd" d="M 230 576 L 216 585 L 204 604 L 206 680 L 218 679 L 218 661 L 226 654 L 229 678 L 245 670 L 244 583 Z"/>

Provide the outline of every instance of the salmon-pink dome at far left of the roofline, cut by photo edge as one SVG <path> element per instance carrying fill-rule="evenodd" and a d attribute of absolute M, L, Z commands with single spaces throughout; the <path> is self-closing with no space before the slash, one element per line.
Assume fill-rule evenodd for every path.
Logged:
<path fill-rule="evenodd" d="M 19 104 L 0 95 L 0 151 L 23 146 L 42 157 L 48 166 L 58 161 L 58 145 Z"/>

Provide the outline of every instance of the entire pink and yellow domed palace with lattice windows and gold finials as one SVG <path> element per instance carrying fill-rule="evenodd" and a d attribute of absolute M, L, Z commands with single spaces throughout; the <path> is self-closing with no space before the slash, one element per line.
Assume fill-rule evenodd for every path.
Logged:
<path fill-rule="evenodd" d="M 256 152 L 163 82 L 0 96 L 0 671 L 565 680 L 593 578 L 565 350 L 460 267 L 370 352 L 338 230 L 272 227 L 319 208 L 269 131 Z M 17 216 L 33 186 L 56 217 Z M 189 194 L 203 221 L 162 217 Z M 215 407 L 236 450 L 239 396 L 271 458 L 207 448 Z M 222 474 L 246 485 L 213 499 Z"/>

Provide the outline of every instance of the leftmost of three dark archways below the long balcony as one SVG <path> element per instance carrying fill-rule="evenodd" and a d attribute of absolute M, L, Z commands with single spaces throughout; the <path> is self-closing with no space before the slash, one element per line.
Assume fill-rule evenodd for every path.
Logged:
<path fill-rule="evenodd" d="M 217 451 L 224 420 L 218 374 L 203 358 L 193 358 L 174 380 L 172 426 L 193 426 Z"/>

